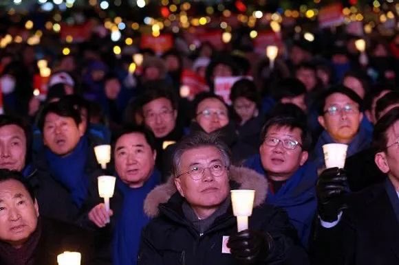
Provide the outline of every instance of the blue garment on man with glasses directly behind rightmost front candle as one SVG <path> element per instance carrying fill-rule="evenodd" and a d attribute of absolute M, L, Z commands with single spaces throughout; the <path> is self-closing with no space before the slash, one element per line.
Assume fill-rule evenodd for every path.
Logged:
<path fill-rule="evenodd" d="M 321 133 L 319 140 L 317 140 L 317 143 L 314 146 L 312 154 L 312 160 L 316 163 L 317 168 L 321 168 L 324 165 L 324 154 L 322 146 L 326 143 L 335 143 L 335 141 L 334 139 L 332 139 L 330 134 L 327 133 L 326 130 L 323 130 L 323 133 Z M 346 157 L 351 157 L 352 155 L 369 148 L 370 143 L 370 133 L 367 132 L 365 128 L 360 126 L 357 135 L 349 143 Z"/>

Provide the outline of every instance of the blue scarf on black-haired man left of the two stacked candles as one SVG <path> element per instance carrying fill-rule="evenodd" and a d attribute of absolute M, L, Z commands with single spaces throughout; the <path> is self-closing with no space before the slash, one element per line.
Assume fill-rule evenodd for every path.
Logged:
<path fill-rule="evenodd" d="M 70 192 L 74 204 L 80 208 L 87 197 L 89 178 L 85 172 L 89 143 L 87 136 L 80 138 L 72 153 L 61 157 L 46 148 L 45 157 L 50 172 Z"/>

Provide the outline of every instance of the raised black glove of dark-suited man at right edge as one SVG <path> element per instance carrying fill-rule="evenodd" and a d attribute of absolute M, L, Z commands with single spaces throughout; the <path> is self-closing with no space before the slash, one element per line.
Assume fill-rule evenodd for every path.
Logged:
<path fill-rule="evenodd" d="M 321 220 L 337 220 L 338 213 L 346 208 L 345 194 L 348 191 L 345 170 L 328 168 L 321 173 L 316 184 L 317 207 Z"/>

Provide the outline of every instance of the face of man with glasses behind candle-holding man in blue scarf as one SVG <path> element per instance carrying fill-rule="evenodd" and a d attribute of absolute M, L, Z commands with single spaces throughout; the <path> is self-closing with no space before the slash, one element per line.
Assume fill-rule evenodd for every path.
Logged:
<path fill-rule="evenodd" d="M 144 123 L 161 138 L 173 130 L 176 125 L 177 111 L 173 109 L 171 101 L 165 97 L 157 98 L 142 106 Z"/>

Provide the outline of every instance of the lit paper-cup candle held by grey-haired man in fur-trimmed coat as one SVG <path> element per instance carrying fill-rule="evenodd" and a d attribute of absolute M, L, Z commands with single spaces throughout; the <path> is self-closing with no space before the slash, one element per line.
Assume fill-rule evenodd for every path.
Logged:
<path fill-rule="evenodd" d="M 233 214 L 237 217 L 237 231 L 248 229 L 248 217 L 252 215 L 255 190 L 233 189 L 231 192 L 231 204 Z"/>

